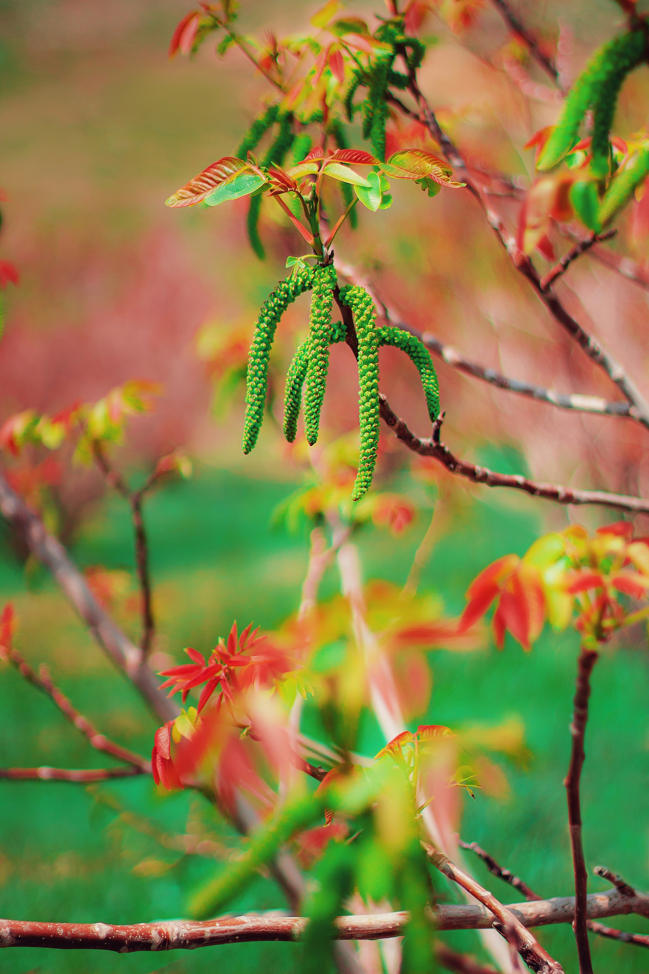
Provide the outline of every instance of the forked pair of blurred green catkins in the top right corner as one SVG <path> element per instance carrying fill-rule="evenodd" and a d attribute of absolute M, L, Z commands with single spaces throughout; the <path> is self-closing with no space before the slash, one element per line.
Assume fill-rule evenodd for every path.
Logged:
<path fill-rule="evenodd" d="M 624 79 L 644 54 L 645 43 L 643 31 L 635 30 L 614 37 L 595 53 L 568 94 L 559 124 L 541 152 L 537 169 L 554 169 L 559 165 L 577 141 L 586 112 L 593 107 L 593 155 L 599 159 L 608 155 L 608 133 L 617 96 Z"/>

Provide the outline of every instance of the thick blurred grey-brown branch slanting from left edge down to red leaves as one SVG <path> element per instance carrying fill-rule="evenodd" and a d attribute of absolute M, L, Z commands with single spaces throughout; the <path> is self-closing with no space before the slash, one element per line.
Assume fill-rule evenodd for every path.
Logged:
<path fill-rule="evenodd" d="M 46 530 L 40 517 L 31 510 L 0 474 L 0 513 L 18 533 L 31 554 L 54 575 L 64 594 L 90 628 L 96 642 L 142 694 L 161 724 L 178 716 L 173 700 L 159 688 L 142 651 L 99 605 L 88 582 L 70 559 L 63 545 Z"/>

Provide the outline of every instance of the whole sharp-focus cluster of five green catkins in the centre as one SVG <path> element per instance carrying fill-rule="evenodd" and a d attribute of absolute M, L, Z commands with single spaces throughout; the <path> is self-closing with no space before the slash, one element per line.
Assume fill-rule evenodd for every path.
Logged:
<path fill-rule="evenodd" d="M 346 338 L 343 323 L 332 321 L 336 287 L 336 271 L 332 264 L 313 269 L 302 267 L 286 281 L 280 281 L 264 302 L 248 356 L 244 453 L 249 453 L 257 442 L 264 419 L 270 348 L 277 323 L 288 305 L 307 290 L 311 291 L 308 335 L 286 375 L 284 434 L 289 442 L 295 440 L 304 392 L 306 440 L 311 446 L 317 441 L 329 371 L 329 349 Z M 360 455 L 352 492 L 352 500 L 358 501 L 369 489 L 377 463 L 380 346 L 392 345 L 401 349 L 415 363 L 433 422 L 439 415 L 440 397 L 432 359 L 414 335 L 401 328 L 378 327 L 374 302 L 363 287 L 348 285 L 341 288 L 339 300 L 352 311 L 358 339 Z"/>

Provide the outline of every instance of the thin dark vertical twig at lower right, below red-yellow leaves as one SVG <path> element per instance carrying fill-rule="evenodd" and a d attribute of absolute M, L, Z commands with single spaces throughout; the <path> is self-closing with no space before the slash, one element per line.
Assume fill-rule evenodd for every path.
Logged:
<path fill-rule="evenodd" d="M 584 845 L 582 843 L 582 816 L 580 801 L 581 772 L 586 759 L 584 738 L 588 723 L 588 701 L 591 695 L 591 673 L 597 661 L 594 650 L 582 650 L 577 664 L 577 689 L 573 701 L 572 749 L 570 765 L 563 784 L 568 799 L 568 825 L 570 827 L 570 846 L 572 848 L 572 863 L 575 874 L 575 919 L 574 931 L 579 955 L 580 974 L 593 974 L 591 948 L 588 942 L 586 921 L 586 895 L 588 874 L 584 860 Z"/>

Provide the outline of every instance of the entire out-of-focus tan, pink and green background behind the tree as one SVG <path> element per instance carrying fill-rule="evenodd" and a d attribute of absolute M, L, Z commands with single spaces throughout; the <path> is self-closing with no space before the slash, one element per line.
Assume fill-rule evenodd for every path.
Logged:
<path fill-rule="evenodd" d="M 308 29 L 316 7 L 243 2 L 241 24 L 260 33 L 272 26 L 282 36 Z M 353 8 L 372 9 L 362 3 Z M 550 49 L 560 21 L 568 39 L 565 77 L 574 77 L 620 23 L 615 5 L 604 0 L 575 3 L 569 11 L 563 4 L 526 2 L 520 10 Z M 206 45 L 194 61 L 168 61 L 170 35 L 185 13 L 182 0 L 0 3 L 0 184 L 7 197 L 0 257 L 11 258 L 21 276 L 19 287 L 6 292 L 0 420 L 27 407 L 54 412 L 78 398 L 93 401 L 132 377 L 163 384 L 156 411 L 129 424 L 116 453 L 133 482 L 177 447 L 195 465 L 190 480 L 168 485 L 147 506 L 160 622 L 154 658 L 160 666 L 170 656 L 180 658 L 187 645 L 209 651 L 234 618 L 278 625 L 298 605 L 308 551 L 306 529 L 289 533 L 273 518 L 301 483 L 304 458 L 286 450 L 270 423 L 257 450 L 243 458 L 242 395 L 235 392 L 228 408 L 221 403 L 214 415 L 210 367 L 198 341 L 206 324 L 210 334 L 251 328 L 286 256 L 302 252 L 304 244 L 265 211 L 269 258 L 260 263 L 245 237 L 245 201 L 213 210 L 163 206 L 178 186 L 234 151 L 259 97 L 267 94 L 264 80 L 237 52 L 224 62 Z M 532 166 L 524 142 L 554 121 L 558 105 L 530 100 L 502 70 L 498 52 L 508 37 L 490 8 L 461 36 L 432 18 L 424 34 L 437 38 L 422 84 L 441 119 L 475 165 L 509 171 L 524 188 Z M 645 123 L 648 95 L 649 73 L 641 68 L 625 89 L 620 134 Z M 559 391 L 615 397 L 530 297 L 468 196 L 443 191 L 428 201 L 410 186 L 394 196 L 392 209 L 362 215 L 355 234 L 343 231 L 337 252 L 367 273 L 404 317 L 506 374 Z M 498 205 L 513 226 L 518 203 Z M 644 263 L 645 238 L 633 211 L 611 246 Z M 560 288 L 565 304 L 615 350 L 646 392 L 645 290 L 592 258 L 571 270 Z M 298 302 L 287 318 L 280 355 L 289 355 L 295 334 L 304 329 L 305 305 Z M 332 352 L 329 439 L 355 429 L 355 370 L 345 353 L 344 347 Z M 445 435 L 461 454 L 506 472 L 647 496 L 642 433 L 631 424 L 552 410 L 493 391 L 443 364 L 439 374 Z M 381 375 L 392 405 L 423 433 L 425 411 L 410 366 L 386 351 Z M 20 481 L 21 471 L 43 459 L 7 463 L 24 485 L 29 478 Z M 404 584 L 437 498 L 438 527 L 420 589 L 438 593 L 451 614 L 460 611 L 467 584 L 493 558 L 523 553 L 540 532 L 562 527 L 568 518 L 595 526 L 615 517 L 469 489 L 431 469 L 417 468 L 412 479 L 411 460 L 385 436 L 383 485 L 403 489 L 418 514 L 399 537 L 363 529 L 364 573 Z M 101 566 L 122 580 L 114 609 L 135 635 L 126 510 L 96 474 L 69 461 L 63 451 L 60 476 L 44 488 L 49 516 L 83 568 Z M 323 597 L 336 588 L 332 571 Z M 6 532 L 0 590 L 3 600 L 16 604 L 24 656 L 34 665 L 47 663 L 55 682 L 103 731 L 146 752 L 153 719 L 52 582 L 24 560 Z M 462 835 L 543 895 L 567 894 L 571 884 L 561 780 L 575 650 L 570 635 L 546 634 L 529 655 L 508 642 L 502 654 L 487 643 L 472 654 L 440 651 L 429 659 L 434 687 L 428 722 L 523 723 L 528 761 L 502 762 L 506 784 L 490 794 L 477 792 L 474 801 L 466 798 Z M 589 866 L 608 865 L 640 888 L 649 886 L 648 664 L 645 636 L 636 633 L 597 667 L 584 783 Z M 364 733 L 363 749 L 372 754 L 382 743 L 379 730 L 368 721 Z M 48 700 L 3 668 L 0 764 L 90 768 L 104 762 Z M 207 854 L 180 854 L 169 837 L 182 834 L 203 837 Z M 2 781 L 0 915 L 108 922 L 181 917 L 188 891 L 214 868 L 209 850 L 222 854 L 229 845 L 234 836 L 201 800 L 163 797 L 150 781 L 96 788 Z M 480 865 L 476 873 L 488 884 Z M 603 887 L 592 880 L 593 890 Z M 507 888 L 493 888 L 511 899 Z M 235 909 L 283 906 L 278 890 L 260 879 Z M 649 929 L 637 918 L 619 924 Z M 565 958 L 567 974 L 576 970 L 568 927 L 544 930 L 541 939 Z M 449 942 L 480 950 L 473 934 L 449 935 Z M 646 966 L 641 952 L 625 945 L 595 940 L 594 954 L 599 970 Z M 260 964 L 297 970 L 300 955 L 298 948 L 277 944 L 164 956 L 0 952 L 3 974 L 194 974 L 214 964 L 238 972 Z"/>

